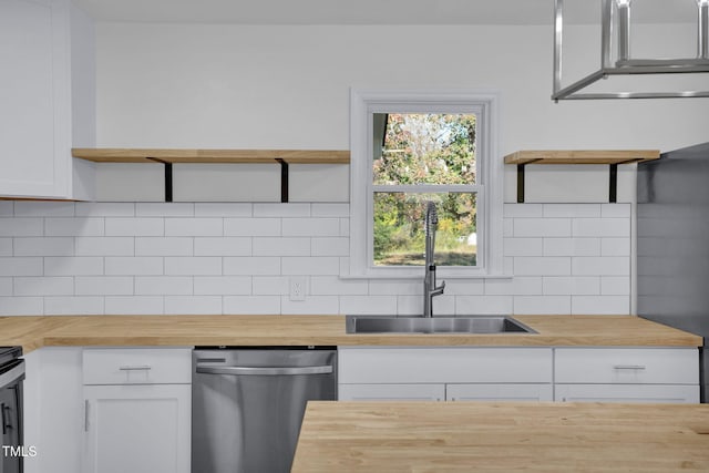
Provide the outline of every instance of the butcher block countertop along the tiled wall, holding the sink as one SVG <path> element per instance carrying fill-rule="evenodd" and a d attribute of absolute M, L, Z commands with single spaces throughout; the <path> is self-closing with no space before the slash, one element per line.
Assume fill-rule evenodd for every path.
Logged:
<path fill-rule="evenodd" d="M 515 316 L 537 333 L 348 335 L 343 316 L 0 317 L 0 346 L 699 347 L 702 338 L 635 316 Z"/>

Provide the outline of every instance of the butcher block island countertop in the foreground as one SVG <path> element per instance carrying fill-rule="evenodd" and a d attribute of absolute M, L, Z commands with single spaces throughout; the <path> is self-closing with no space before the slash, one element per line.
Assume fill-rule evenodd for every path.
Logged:
<path fill-rule="evenodd" d="M 709 471 L 709 404 L 311 401 L 292 473 Z"/>

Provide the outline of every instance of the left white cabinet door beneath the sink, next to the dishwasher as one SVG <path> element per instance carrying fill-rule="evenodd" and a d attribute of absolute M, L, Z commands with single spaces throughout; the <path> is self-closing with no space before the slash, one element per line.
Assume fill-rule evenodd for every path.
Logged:
<path fill-rule="evenodd" d="M 340 384 L 340 401 L 443 401 L 444 384 Z"/>

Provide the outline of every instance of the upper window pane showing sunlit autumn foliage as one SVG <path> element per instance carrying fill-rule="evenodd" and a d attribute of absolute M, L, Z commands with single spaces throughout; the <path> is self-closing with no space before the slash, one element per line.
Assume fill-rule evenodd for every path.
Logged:
<path fill-rule="evenodd" d="M 475 115 L 376 113 L 373 183 L 475 184 Z"/>

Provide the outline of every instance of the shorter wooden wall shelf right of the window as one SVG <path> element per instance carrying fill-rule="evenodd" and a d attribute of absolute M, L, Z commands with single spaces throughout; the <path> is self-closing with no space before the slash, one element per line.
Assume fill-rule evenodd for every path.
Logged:
<path fill-rule="evenodd" d="M 630 164 L 660 157 L 658 150 L 517 151 L 505 164 Z"/>

